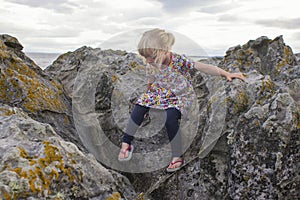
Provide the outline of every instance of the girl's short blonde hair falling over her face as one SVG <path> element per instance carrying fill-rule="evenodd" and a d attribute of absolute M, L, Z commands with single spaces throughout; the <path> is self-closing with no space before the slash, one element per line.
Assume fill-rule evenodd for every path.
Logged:
<path fill-rule="evenodd" d="M 163 29 L 152 29 L 143 33 L 138 43 L 138 52 L 141 56 L 147 57 L 154 55 L 155 61 L 162 63 L 162 55 L 170 51 L 175 43 L 175 37 Z"/>

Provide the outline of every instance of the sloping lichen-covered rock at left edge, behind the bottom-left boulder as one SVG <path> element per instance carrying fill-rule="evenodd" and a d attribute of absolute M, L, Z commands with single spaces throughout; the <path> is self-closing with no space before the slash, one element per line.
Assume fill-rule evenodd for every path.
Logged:
<path fill-rule="evenodd" d="M 84 149 L 72 122 L 71 101 L 61 83 L 27 57 L 16 38 L 2 35 L 0 47 L 0 103 L 24 109 Z"/>

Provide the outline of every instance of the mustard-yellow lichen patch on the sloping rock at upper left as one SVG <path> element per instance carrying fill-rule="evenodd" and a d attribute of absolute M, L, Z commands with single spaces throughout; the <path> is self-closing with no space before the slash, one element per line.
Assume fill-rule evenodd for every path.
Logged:
<path fill-rule="evenodd" d="M 0 98 L 7 103 L 20 99 L 29 112 L 66 110 L 66 105 L 59 96 L 63 93 L 62 86 L 57 82 L 45 83 L 28 66 L 17 62 L 2 71 L 0 85 L 4 90 L 1 91 Z"/>

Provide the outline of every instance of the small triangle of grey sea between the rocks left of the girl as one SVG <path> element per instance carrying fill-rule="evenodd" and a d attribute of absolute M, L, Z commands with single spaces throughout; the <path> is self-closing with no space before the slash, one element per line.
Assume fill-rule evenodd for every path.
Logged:
<path fill-rule="evenodd" d="M 40 68 L 45 69 L 49 65 L 55 61 L 59 55 L 59 53 L 37 53 L 37 52 L 29 52 L 25 54 L 33 60 Z"/>

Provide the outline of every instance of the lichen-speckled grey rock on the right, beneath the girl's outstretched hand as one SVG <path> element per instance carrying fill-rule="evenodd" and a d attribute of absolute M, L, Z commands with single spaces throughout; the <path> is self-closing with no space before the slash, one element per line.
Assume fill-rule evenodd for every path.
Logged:
<path fill-rule="evenodd" d="M 230 197 L 299 198 L 300 66 L 291 48 L 261 37 L 230 49 L 221 65 L 249 77 L 230 92 Z"/>

